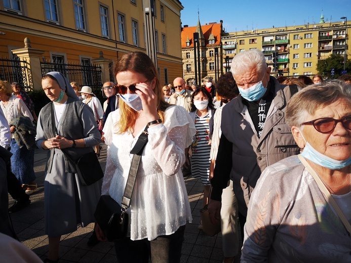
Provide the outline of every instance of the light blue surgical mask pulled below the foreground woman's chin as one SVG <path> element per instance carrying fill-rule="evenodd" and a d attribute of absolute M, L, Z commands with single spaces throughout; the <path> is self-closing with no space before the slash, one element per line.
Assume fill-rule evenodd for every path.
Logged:
<path fill-rule="evenodd" d="M 302 138 L 303 138 L 303 135 L 302 135 Z M 304 138 L 303 140 L 306 142 Z M 341 169 L 351 164 L 351 157 L 343 161 L 335 160 L 333 158 L 330 158 L 320 153 L 307 142 L 306 142 L 305 148 L 303 148 L 301 155 L 306 159 L 331 170 Z"/>

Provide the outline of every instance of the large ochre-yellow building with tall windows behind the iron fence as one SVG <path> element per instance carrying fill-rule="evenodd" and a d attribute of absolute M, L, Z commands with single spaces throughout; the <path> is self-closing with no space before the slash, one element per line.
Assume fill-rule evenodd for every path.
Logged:
<path fill-rule="evenodd" d="M 182 9 L 178 0 L 0 0 L 0 77 L 11 80 L 14 62 L 5 58 L 16 54 L 27 63 L 31 89 L 40 88 L 38 79 L 49 66 L 69 70 L 44 61 L 99 65 L 101 80 L 93 84 L 101 85 L 113 80 L 110 69 L 116 59 L 131 51 L 149 50 L 150 57 L 157 55 L 161 83 L 169 83 L 183 73 Z M 85 84 L 85 76 L 68 77 Z"/>

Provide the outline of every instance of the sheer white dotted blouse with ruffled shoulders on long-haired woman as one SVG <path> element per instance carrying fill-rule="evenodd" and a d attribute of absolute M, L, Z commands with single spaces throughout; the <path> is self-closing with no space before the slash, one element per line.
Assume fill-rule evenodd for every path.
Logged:
<path fill-rule="evenodd" d="M 119 119 L 117 109 L 108 115 L 103 129 L 108 147 L 101 191 L 121 204 L 133 157 L 130 151 L 139 135 L 114 133 Z M 164 112 L 164 123 L 149 127 L 148 133 L 127 210 L 132 240 L 171 235 L 192 220 L 180 168 L 185 162 L 184 149 L 196 133 L 193 121 L 184 108 L 171 106 Z"/>

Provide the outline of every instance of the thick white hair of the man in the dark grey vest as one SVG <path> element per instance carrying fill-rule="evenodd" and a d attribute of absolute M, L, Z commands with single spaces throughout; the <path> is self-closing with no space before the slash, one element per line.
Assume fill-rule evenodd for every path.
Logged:
<path fill-rule="evenodd" d="M 242 75 L 252 68 L 257 68 L 260 74 L 267 68 L 263 53 L 257 49 L 242 51 L 231 61 L 233 76 Z"/>

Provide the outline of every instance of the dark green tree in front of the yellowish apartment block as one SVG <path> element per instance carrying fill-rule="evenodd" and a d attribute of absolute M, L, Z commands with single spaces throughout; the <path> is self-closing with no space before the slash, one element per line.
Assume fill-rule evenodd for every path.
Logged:
<path fill-rule="evenodd" d="M 331 75 L 331 70 L 334 69 L 334 76 Z M 344 69 L 344 56 L 331 54 L 327 59 L 320 60 L 317 63 L 317 70 L 324 77 L 337 78 L 341 75 Z M 351 73 L 351 61 L 346 59 L 346 71 Z"/>

